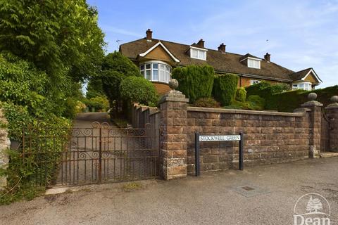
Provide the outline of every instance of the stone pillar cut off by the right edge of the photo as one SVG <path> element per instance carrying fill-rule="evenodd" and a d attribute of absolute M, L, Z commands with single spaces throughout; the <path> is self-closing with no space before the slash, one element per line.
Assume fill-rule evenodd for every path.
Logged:
<path fill-rule="evenodd" d="M 332 96 L 332 104 L 327 105 L 326 115 L 330 122 L 330 151 L 338 152 L 338 96 Z"/>

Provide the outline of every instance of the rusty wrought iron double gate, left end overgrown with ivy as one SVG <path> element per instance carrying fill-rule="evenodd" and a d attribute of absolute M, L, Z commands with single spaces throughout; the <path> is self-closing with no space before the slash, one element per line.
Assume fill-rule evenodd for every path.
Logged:
<path fill-rule="evenodd" d="M 33 133 L 23 137 L 22 155 L 37 165 L 33 179 L 39 185 L 132 181 L 159 174 L 159 134 L 151 124 L 145 129 L 117 129 L 93 122 L 89 128 L 65 129 L 65 143 L 55 143 L 53 132 Z"/>

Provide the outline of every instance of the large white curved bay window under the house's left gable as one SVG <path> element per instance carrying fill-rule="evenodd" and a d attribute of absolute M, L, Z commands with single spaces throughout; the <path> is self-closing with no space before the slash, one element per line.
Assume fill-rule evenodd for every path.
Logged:
<path fill-rule="evenodd" d="M 151 67 L 150 69 L 146 69 L 146 65 L 150 64 Z M 158 65 L 157 69 L 154 69 L 154 64 Z M 141 69 L 143 66 L 143 70 Z M 153 77 L 153 71 L 157 70 L 157 79 L 154 79 Z M 168 84 L 170 81 L 170 77 L 171 77 L 171 66 L 168 65 L 167 63 L 164 63 L 162 61 L 159 60 L 150 60 L 150 61 L 146 61 L 143 62 L 139 65 L 139 71 L 141 72 L 141 74 L 143 75 L 143 77 L 145 79 L 146 78 L 146 71 L 150 71 L 150 80 L 151 82 L 161 82 L 161 83 L 166 83 Z M 162 73 L 162 76 L 161 76 Z"/>

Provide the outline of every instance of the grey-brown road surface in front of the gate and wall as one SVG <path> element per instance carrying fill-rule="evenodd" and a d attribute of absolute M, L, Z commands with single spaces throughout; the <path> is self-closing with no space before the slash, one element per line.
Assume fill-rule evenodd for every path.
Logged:
<path fill-rule="evenodd" d="M 0 224 L 294 224 L 294 205 L 306 193 L 323 195 L 331 224 L 338 224 L 337 170 L 338 158 L 322 158 L 174 181 L 83 186 L 1 206 Z"/>

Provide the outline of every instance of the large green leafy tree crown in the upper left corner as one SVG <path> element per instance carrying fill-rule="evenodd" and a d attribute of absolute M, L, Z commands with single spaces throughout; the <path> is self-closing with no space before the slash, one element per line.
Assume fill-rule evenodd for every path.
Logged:
<path fill-rule="evenodd" d="M 97 11 L 84 0 L 0 2 L 0 50 L 33 62 L 56 89 L 99 70 L 104 34 Z"/>

